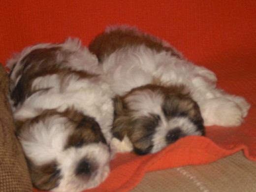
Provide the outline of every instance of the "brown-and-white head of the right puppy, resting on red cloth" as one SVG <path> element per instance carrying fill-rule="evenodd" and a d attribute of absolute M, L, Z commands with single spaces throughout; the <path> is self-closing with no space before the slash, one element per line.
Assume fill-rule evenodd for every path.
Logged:
<path fill-rule="evenodd" d="M 127 135 L 133 151 L 156 153 L 186 135 L 203 135 L 199 107 L 184 87 L 146 85 L 115 98 L 113 135 Z"/>

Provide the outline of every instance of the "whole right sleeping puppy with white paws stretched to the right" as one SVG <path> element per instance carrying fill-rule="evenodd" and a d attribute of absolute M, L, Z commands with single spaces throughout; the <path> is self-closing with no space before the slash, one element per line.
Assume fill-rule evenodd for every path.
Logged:
<path fill-rule="evenodd" d="M 186 135 L 204 135 L 204 125 L 238 126 L 250 108 L 216 89 L 212 71 L 136 28 L 108 27 L 89 50 L 117 95 L 111 132 L 119 152 L 156 153 Z"/>

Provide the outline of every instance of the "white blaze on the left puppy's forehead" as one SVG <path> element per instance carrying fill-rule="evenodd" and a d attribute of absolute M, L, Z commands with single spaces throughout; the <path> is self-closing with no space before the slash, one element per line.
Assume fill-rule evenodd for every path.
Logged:
<path fill-rule="evenodd" d="M 54 115 L 30 124 L 21 131 L 19 140 L 25 154 L 36 165 L 42 165 L 56 160 L 71 131 L 67 118 Z"/>

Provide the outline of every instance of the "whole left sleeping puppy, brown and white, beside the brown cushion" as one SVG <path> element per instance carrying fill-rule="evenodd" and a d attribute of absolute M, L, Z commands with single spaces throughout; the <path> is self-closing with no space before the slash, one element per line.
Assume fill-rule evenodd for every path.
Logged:
<path fill-rule="evenodd" d="M 112 92 L 78 39 L 24 49 L 7 66 L 17 136 L 32 183 L 79 192 L 109 173 Z"/>

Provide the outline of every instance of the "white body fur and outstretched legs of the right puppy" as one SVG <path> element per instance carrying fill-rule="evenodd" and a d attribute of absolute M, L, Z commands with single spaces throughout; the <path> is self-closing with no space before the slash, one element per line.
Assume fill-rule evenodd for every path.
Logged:
<path fill-rule="evenodd" d="M 144 45 L 111 54 L 104 61 L 103 70 L 111 88 L 119 95 L 150 84 L 155 78 L 166 85 L 185 85 L 200 106 L 205 126 L 239 126 L 250 108 L 243 97 L 216 88 L 214 72 Z"/>

